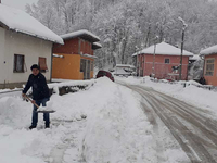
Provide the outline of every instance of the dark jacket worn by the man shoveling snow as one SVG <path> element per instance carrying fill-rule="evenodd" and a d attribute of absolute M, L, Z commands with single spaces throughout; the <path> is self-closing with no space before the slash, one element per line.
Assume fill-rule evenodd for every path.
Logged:
<path fill-rule="evenodd" d="M 29 88 L 33 88 L 33 99 L 42 100 L 44 98 L 50 98 L 49 88 L 46 82 L 46 77 L 39 73 L 37 76 L 30 74 L 26 87 L 23 90 L 23 93 L 26 93 Z"/>

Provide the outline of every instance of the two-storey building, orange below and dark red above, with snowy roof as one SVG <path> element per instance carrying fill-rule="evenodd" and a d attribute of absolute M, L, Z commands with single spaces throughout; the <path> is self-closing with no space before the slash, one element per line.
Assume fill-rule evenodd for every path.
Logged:
<path fill-rule="evenodd" d="M 90 79 L 93 77 L 94 50 L 102 48 L 100 38 L 82 29 L 61 36 L 64 46 L 54 45 L 52 78 Z M 56 57 L 59 55 L 59 57 Z M 62 57 L 62 58 L 60 58 Z"/>

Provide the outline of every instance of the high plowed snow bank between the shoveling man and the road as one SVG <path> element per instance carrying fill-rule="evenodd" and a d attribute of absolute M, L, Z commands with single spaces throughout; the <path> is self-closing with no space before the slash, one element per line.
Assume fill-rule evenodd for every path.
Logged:
<path fill-rule="evenodd" d="M 107 78 L 100 78 L 95 93 L 98 103 L 87 116 L 82 151 L 87 162 L 141 163 L 156 162 L 152 126 L 141 108 L 140 96 Z M 106 87 L 103 87 L 105 85 Z M 149 134 L 148 134 L 149 133 Z"/>

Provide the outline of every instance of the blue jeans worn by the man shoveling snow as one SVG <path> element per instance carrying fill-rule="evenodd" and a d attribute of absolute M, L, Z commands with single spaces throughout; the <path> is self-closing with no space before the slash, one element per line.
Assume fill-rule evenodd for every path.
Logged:
<path fill-rule="evenodd" d="M 42 104 L 42 106 L 46 106 L 47 101 L 49 101 L 49 98 L 44 98 L 42 100 L 36 100 L 36 104 L 38 104 L 39 106 L 40 104 Z M 50 124 L 49 113 L 43 113 L 43 121 L 46 121 L 46 125 Z M 31 125 L 37 126 L 37 123 L 38 123 L 38 112 L 37 112 L 37 106 L 34 105 Z"/>

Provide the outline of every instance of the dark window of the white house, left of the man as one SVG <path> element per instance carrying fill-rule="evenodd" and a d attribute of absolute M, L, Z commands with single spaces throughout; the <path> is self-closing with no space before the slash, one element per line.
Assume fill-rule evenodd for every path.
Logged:
<path fill-rule="evenodd" d="M 24 55 L 14 54 L 14 73 L 24 73 Z"/>

